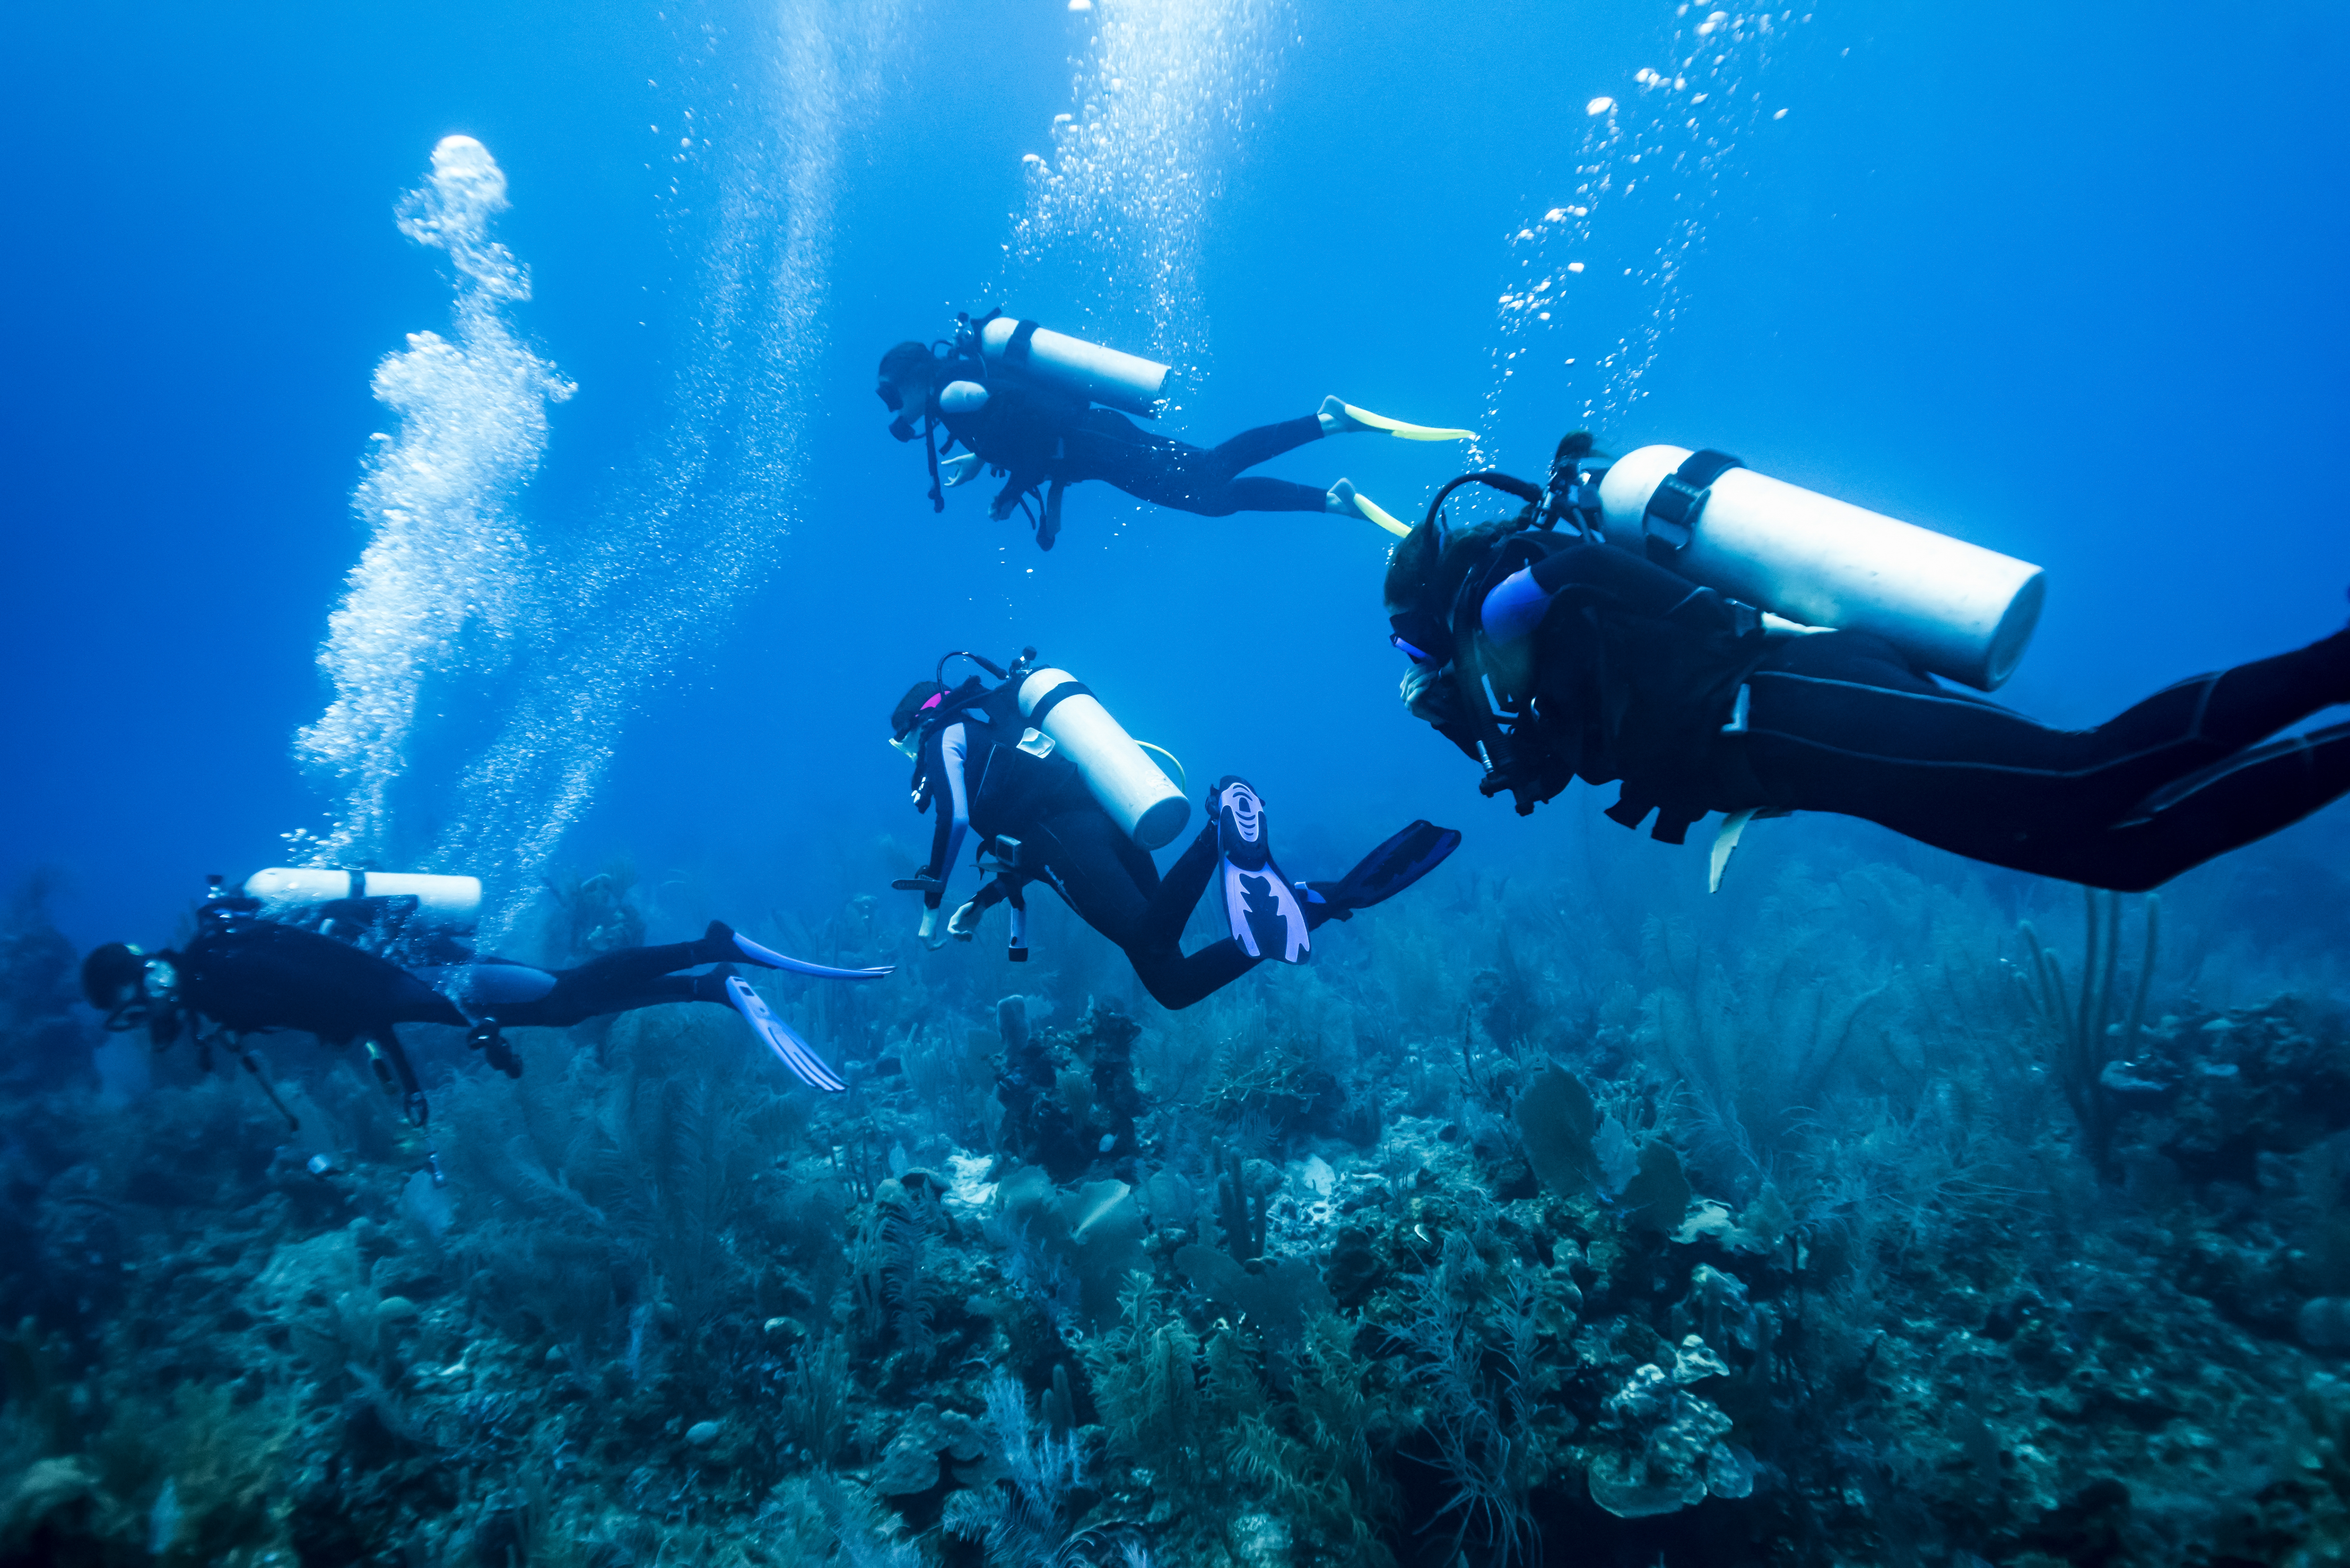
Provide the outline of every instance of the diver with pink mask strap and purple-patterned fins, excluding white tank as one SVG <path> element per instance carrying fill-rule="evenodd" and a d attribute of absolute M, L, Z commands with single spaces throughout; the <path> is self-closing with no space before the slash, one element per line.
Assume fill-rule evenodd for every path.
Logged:
<path fill-rule="evenodd" d="M 1043 882 L 1126 952 L 1154 1001 L 1187 1009 L 1269 957 L 1302 961 L 1309 931 L 1394 898 L 1459 844 L 1450 827 L 1412 823 L 1340 882 L 1290 884 L 1274 865 L 1255 790 L 1224 778 L 1208 792 L 1208 825 L 1161 877 L 1076 764 L 1022 750 L 1022 670 L 1025 661 L 994 689 L 978 677 L 952 691 L 921 682 L 891 712 L 893 745 L 914 757 L 914 809 L 938 811 L 931 863 L 898 884 L 924 893 L 921 936 L 933 945 L 942 940 L 938 914 L 954 860 L 978 832 L 996 875 L 954 912 L 945 936 L 968 940 L 978 917 L 1006 900 L 1018 919 L 1022 889 Z M 1217 872 L 1234 933 L 1187 954 L 1182 929 Z"/>

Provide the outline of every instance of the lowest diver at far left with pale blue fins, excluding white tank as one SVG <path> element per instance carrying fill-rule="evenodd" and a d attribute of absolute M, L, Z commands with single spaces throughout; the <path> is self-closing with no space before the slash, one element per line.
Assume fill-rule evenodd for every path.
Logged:
<path fill-rule="evenodd" d="M 804 1084 L 841 1093 L 846 1084 L 776 1018 L 733 964 L 827 980 L 874 980 L 891 973 L 804 964 L 738 936 L 721 922 L 710 922 L 693 943 L 625 947 L 578 969 L 531 969 L 449 947 L 444 957 L 456 961 L 411 971 L 327 931 L 263 919 L 263 907 L 261 898 L 228 893 L 214 877 L 197 912 L 195 940 L 183 952 L 164 947 L 150 954 L 129 943 L 108 943 L 82 959 L 82 994 L 89 1006 L 106 1013 L 108 1032 L 143 1025 L 157 1048 L 193 1030 L 197 1060 L 204 1067 L 212 1065 L 212 1046 L 228 1044 L 263 1091 L 268 1079 L 244 1044 L 247 1034 L 303 1030 L 334 1046 L 367 1041 L 376 1079 L 404 1095 L 409 1121 L 418 1128 L 430 1112 L 395 1030 L 402 1023 L 470 1030 L 470 1044 L 484 1051 L 494 1067 L 522 1077 L 522 1063 L 501 1034 L 505 1027 L 564 1027 L 665 1001 L 719 1001 L 743 1013 Z M 703 964 L 717 969 L 703 976 L 677 973 Z M 270 1100 L 277 1103 L 277 1095 L 270 1093 Z M 284 1112 L 284 1105 L 277 1110 Z M 291 1114 L 287 1119 L 291 1121 Z"/>

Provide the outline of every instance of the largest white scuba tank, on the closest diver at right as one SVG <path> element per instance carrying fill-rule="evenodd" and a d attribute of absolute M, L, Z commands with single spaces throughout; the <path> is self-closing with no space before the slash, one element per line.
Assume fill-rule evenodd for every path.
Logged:
<path fill-rule="evenodd" d="M 2023 658 L 2047 597 L 2040 567 L 1751 468 L 1683 475 L 1692 456 L 1718 454 L 1640 447 L 1614 461 L 1600 480 L 1607 543 L 1788 621 L 1875 632 L 1981 691 Z"/>

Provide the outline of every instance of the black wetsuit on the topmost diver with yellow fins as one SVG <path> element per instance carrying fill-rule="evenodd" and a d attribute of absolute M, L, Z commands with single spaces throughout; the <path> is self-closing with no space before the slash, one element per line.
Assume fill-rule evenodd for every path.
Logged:
<path fill-rule="evenodd" d="M 1137 501 L 1201 517 L 1321 512 L 1328 505 L 1328 491 L 1311 484 L 1241 473 L 1318 442 L 1323 428 L 1314 414 L 1243 430 L 1222 447 L 1191 447 L 1152 435 L 1112 409 L 996 381 L 982 407 L 940 411 L 938 418 L 989 468 L 1010 475 L 994 503 L 999 515 L 1046 482 L 1062 487 L 1083 480 L 1102 480 Z"/>

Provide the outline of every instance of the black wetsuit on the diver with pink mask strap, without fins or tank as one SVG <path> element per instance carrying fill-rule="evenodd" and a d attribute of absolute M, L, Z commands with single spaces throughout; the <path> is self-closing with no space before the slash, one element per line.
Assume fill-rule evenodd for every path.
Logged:
<path fill-rule="evenodd" d="M 916 806 L 940 813 L 931 860 L 940 882 L 954 870 L 964 825 L 985 839 L 1018 839 L 1018 867 L 980 891 L 980 907 L 1043 882 L 1126 952 L 1142 990 L 1166 1009 L 1187 1009 L 1262 961 L 1229 936 L 1198 952 L 1182 950 L 1191 907 L 1215 877 L 1215 823 L 1161 877 L 1067 759 L 1039 759 L 1018 748 L 1022 724 L 1010 708 L 1010 682 L 985 696 L 959 696 L 966 701 L 949 698 L 947 715 L 924 736 L 914 783 Z M 931 907 L 938 907 L 935 893 Z M 1321 924 L 1318 910 L 1309 907 L 1307 922 Z"/>

